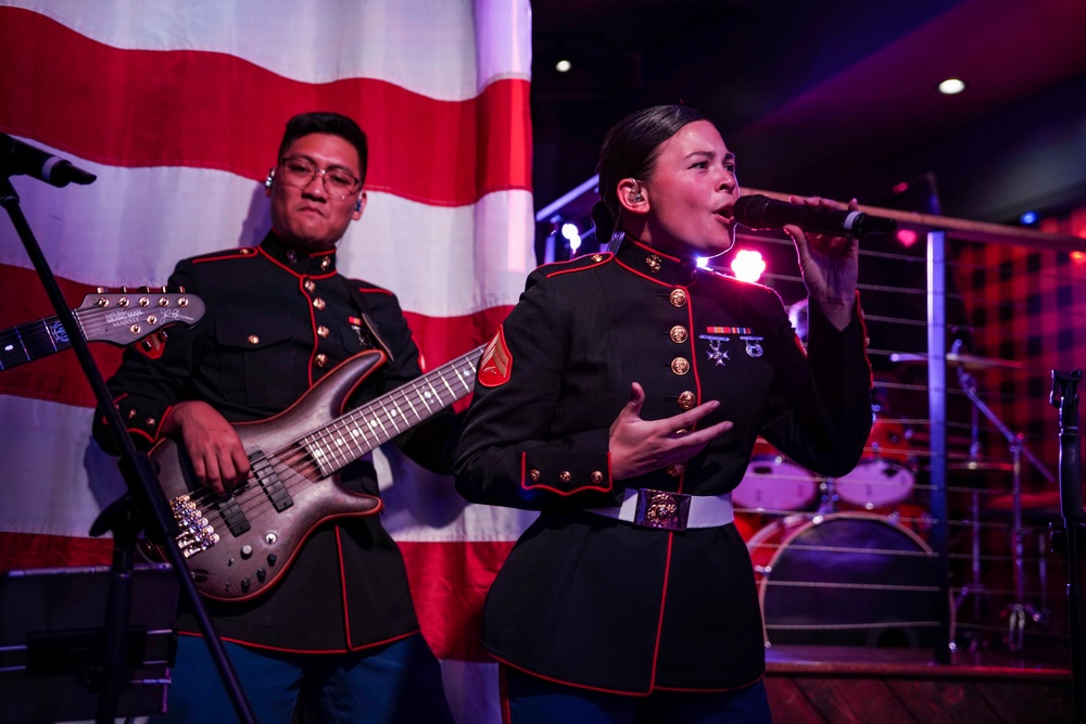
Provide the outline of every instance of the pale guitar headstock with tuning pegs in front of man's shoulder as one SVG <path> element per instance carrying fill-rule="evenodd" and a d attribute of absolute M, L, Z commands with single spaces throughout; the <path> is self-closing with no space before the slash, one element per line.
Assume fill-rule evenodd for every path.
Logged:
<path fill-rule="evenodd" d="M 73 314 L 88 342 L 125 346 L 172 325 L 191 327 L 203 317 L 204 303 L 184 288 L 140 287 L 119 293 L 99 288 Z"/>

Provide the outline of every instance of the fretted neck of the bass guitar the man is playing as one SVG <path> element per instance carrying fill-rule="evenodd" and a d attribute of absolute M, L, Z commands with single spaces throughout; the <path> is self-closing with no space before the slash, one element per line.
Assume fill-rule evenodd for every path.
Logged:
<path fill-rule="evenodd" d="M 482 351 L 482 346 L 477 347 L 351 410 L 303 437 L 301 444 L 324 475 L 332 474 L 466 397 L 475 389 L 476 366 Z"/>

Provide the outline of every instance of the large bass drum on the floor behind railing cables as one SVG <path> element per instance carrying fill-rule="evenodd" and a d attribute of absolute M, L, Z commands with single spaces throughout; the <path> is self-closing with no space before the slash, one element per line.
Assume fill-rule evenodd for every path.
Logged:
<path fill-rule="evenodd" d="M 934 646 L 937 560 L 915 533 L 877 516 L 779 519 L 747 543 L 766 644 Z"/>

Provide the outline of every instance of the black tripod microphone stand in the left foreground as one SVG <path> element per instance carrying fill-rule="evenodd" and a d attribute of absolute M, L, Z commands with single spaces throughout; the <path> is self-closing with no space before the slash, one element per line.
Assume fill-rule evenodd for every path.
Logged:
<path fill-rule="evenodd" d="M 96 722 L 98 724 L 112 724 L 116 719 L 117 700 L 121 687 L 125 683 L 128 626 L 131 615 L 131 579 L 137 537 L 140 529 L 147 524 L 152 537 L 157 535 L 157 539 L 168 541 L 162 548 L 169 559 L 171 568 L 181 590 L 185 592 L 185 596 L 192 605 L 200 630 L 204 634 L 212 659 L 215 661 L 227 693 L 230 695 L 239 720 L 244 724 L 254 723 L 256 720 L 253 716 L 252 707 L 245 698 L 226 650 L 223 648 L 223 643 L 199 597 L 185 564 L 185 558 L 177 547 L 177 522 L 154 470 L 151 468 L 151 461 L 147 455 L 136 449 L 131 439 L 125 432 L 121 414 L 113 405 L 105 381 L 87 347 L 87 341 L 84 339 L 60 285 L 56 283 L 56 278 L 23 215 L 23 209 L 18 204 L 18 194 L 11 183 L 12 173 L 0 163 L 0 206 L 3 206 L 11 216 L 15 231 L 26 247 L 26 253 L 41 279 L 41 284 L 56 310 L 56 316 L 67 332 L 68 341 L 79 360 L 79 366 L 87 376 L 87 381 L 98 401 L 98 409 L 106 418 L 109 428 L 121 450 L 119 467 L 128 487 L 125 495 L 102 511 L 90 529 L 91 535 L 94 536 L 109 530 L 113 531 L 113 560 L 110 570 L 102 660 L 100 665 L 86 672 L 87 676 L 85 677 L 90 684 L 88 688 L 97 690 L 98 694 Z"/>

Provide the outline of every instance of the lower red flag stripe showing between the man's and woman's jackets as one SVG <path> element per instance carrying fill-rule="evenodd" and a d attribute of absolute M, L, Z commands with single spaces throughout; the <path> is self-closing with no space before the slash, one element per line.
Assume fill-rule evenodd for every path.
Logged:
<path fill-rule="evenodd" d="M 400 543 L 422 635 L 439 659 L 488 661 L 482 606 L 513 541 Z"/>

